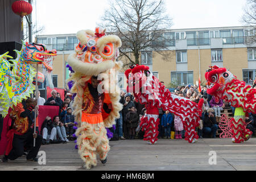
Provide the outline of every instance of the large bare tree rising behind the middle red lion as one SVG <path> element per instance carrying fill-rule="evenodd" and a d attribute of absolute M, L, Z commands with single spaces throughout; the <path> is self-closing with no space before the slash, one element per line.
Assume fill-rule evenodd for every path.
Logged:
<path fill-rule="evenodd" d="M 163 0 L 109 0 L 110 8 L 102 16 L 108 32 L 122 40 L 120 57 L 125 56 L 128 64 L 139 64 L 140 52 L 158 52 L 167 59 L 170 37 L 164 31 L 170 29 L 172 19 L 166 14 Z M 173 38 L 174 39 L 174 38 Z"/>

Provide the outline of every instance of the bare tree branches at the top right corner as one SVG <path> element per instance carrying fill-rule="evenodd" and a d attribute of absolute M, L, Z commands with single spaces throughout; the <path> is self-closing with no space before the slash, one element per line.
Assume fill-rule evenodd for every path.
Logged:
<path fill-rule="evenodd" d="M 251 30 L 256 28 L 256 0 L 247 0 L 246 6 L 243 9 L 244 13 L 242 16 L 242 22 L 251 26 Z M 253 44 L 256 42 L 254 34 L 248 32 L 250 36 L 246 39 L 246 44 Z"/>

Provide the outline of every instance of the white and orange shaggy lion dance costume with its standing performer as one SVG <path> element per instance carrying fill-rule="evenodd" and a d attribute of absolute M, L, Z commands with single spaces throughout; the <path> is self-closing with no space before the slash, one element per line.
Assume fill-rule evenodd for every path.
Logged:
<path fill-rule="evenodd" d="M 97 154 L 101 161 L 106 160 L 110 146 L 105 127 L 112 127 L 122 110 L 119 103 L 120 90 L 116 84 L 117 75 L 113 76 L 113 72 L 117 73 L 122 67 L 121 61 L 115 61 L 121 40 L 115 35 L 105 35 L 105 30 L 98 27 L 95 32 L 77 32 L 77 38 L 79 45 L 76 52 L 68 57 L 68 64 L 74 71 L 69 80 L 74 82 L 71 92 L 76 93 L 73 114 L 78 123 L 78 150 L 86 169 L 90 169 L 97 165 Z M 97 76 L 98 80 L 104 77 L 98 85 L 103 93 L 97 93 L 97 89 L 92 92 L 90 84 L 93 76 Z M 112 105 L 109 113 L 104 109 L 106 104 Z"/>

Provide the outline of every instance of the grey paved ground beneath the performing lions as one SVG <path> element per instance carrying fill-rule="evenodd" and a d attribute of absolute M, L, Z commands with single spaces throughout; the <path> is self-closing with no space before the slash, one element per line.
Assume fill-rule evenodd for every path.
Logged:
<path fill-rule="evenodd" d="M 45 165 L 27 162 L 26 156 L 22 156 L 8 163 L 0 163 L 0 171 L 85 170 L 74 147 L 73 142 L 44 145 L 40 151 L 46 152 Z M 241 144 L 220 138 L 199 139 L 194 144 L 184 139 L 159 139 L 155 145 L 148 145 L 139 139 L 118 140 L 110 141 L 110 147 L 108 163 L 101 164 L 98 160 L 98 165 L 92 171 L 256 170 L 256 138 Z M 213 157 L 209 155 L 210 151 L 216 152 L 216 164 L 209 164 L 209 158 Z"/>

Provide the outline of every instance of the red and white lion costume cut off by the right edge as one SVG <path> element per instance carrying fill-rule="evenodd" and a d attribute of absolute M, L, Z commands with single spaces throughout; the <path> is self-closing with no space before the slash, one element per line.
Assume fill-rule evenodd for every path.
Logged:
<path fill-rule="evenodd" d="M 256 113 L 256 89 L 238 80 L 226 68 L 218 68 L 216 65 L 210 67 L 205 78 L 208 81 L 208 94 L 215 96 L 217 102 L 223 99 L 236 107 L 234 118 L 230 121 L 232 142 L 245 142 L 251 136 L 251 131 L 245 127 L 245 115 Z"/>

